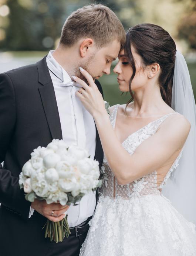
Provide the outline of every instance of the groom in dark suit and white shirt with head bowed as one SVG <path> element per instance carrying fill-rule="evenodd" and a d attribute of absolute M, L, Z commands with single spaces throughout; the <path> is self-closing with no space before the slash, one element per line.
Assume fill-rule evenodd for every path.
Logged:
<path fill-rule="evenodd" d="M 112 60 L 125 43 L 116 15 L 101 4 L 85 6 L 66 20 L 56 50 L 36 64 L 0 74 L 0 255 L 76 256 L 88 232 L 95 194 L 78 206 L 25 200 L 18 176 L 30 153 L 52 139 L 86 148 L 101 168 L 103 151 L 92 116 L 75 92 L 82 79 L 79 67 L 95 79 L 110 73 Z M 102 93 L 101 85 L 96 84 Z M 47 219 L 68 213 L 71 235 L 61 243 L 44 238 Z"/>

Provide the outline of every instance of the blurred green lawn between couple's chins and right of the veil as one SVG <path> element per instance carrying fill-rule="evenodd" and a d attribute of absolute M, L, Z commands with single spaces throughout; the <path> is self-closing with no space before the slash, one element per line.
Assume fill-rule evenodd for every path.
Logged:
<path fill-rule="evenodd" d="M 118 89 L 117 75 L 113 73 L 113 68 L 111 68 L 110 75 L 104 75 L 99 79 L 104 91 L 104 99 L 108 101 L 110 106 L 115 104 L 125 104 L 130 99 L 130 94 L 124 93 L 121 96 L 121 91 Z M 196 99 L 196 63 L 188 64 L 190 79 L 192 82 L 193 92 Z"/>

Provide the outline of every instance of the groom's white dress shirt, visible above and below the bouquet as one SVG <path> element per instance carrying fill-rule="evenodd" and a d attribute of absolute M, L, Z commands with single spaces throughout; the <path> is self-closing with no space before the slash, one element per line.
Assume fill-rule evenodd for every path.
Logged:
<path fill-rule="evenodd" d="M 62 139 L 68 145 L 78 145 L 88 150 L 94 159 L 96 147 L 96 128 L 93 117 L 75 96 L 80 85 L 71 81 L 68 73 L 54 59 L 52 53 L 48 53 L 46 62 L 54 86 L 58 112 L 61 122 Z M 77 206 L 70 206 L 67 211 L 68 224 L 74 227 L 92 216 L 95 210 L 96 196 L 91 192 L 82 197 Z M 34 209 L 30 209 L 29 217 Z"/>

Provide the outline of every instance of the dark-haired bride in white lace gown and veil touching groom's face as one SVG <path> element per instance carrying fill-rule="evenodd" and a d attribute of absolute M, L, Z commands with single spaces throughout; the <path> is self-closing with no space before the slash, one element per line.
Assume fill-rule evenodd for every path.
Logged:
<path fill-rule="evenodd" d="M 129 29 L 118 58 L 119 89 L 134 101 L 112 106 L 110 115 L 92 77 L 81 68 L 88 86 L 73 76 L 83 87 L 76 94 L 94 117 L 104 149 L 99 202 L 80 256 L 195 256 L 195 225 L 187 220 L 194 222 L 194 216 L 183 213 L 188 200 L 181 197 L 189 183 L 195 187 L 196 168 L 190 164 L 195 101 L 188 71 L 180 69 L 186 62 L 168 32 L 153 24 Z M 193 157 L 183 157 L 187 150 Z M 169 198 L 179 193 L 182 211 L 160 193 L 167 184 Z"/>

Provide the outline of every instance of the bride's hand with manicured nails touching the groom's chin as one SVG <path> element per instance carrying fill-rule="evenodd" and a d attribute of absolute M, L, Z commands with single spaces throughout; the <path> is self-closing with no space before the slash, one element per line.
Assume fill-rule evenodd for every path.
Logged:
<path fill-rule="evenodd" d="M 89 85 L 77 76 L 72 76 L 75 82 L 79 83 L 80 88 L 75 95 L 80 98 L 82 104 L 88 110 L 88 112 L 94 117 L 96 114 L 105 114 L 105 103 L 104 99 L 97 88 L 93 78 L 89 73 L 80 68 L 82 75 L 87 79 Z M 107 113 L 107 112 L 106 112 Z"/>

